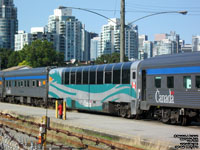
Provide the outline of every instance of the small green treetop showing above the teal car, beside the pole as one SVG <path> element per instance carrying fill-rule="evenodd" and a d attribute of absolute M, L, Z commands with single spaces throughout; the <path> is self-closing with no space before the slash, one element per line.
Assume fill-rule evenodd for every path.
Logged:
<path fill-rule="evenodd" d="M 124 61 L 128 61 L 128 58 L 125 57 Z M 96 64 L 104 64 L 104 63 L 118 63 L 120 62 L 120 54 L 119 53 L 112 53 L 104 54 L 97 58 L 95 61 Z"/>

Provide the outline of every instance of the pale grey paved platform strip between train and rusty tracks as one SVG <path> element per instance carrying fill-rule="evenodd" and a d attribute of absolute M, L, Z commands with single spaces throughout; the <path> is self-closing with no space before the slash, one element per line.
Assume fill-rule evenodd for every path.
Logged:
<path fill-rule="evenodd" d="M 27 116 L 44 116 L 46 110 L 30 106 L 0 103 L 1 112 L 14 112 Z M 67 120 L 55 118 L 55 110 L 48 109 L 48 117 L 58 123 L 78 128 L 94 130 L 101 133 L 127 138 L 139 138 L 149 142 L 161 142 L 168 145 L 180 145 L 181 141 L 174 135 L 198 135 L 200 145 L 200 125 L 187 127 L 167 125 L 153 120 L 133 120 L 120 117 L 89 114 L 80 112 L 67 112 Z"/>

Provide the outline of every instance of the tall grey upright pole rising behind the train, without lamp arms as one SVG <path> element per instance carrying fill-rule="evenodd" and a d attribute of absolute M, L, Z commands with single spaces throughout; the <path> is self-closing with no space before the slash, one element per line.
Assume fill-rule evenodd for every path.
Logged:
<path fill-rule="evenodd" d="M 120 62 L 124 62 L 125 52 L 125 0 L 121 0 L 120 11 Z"/>

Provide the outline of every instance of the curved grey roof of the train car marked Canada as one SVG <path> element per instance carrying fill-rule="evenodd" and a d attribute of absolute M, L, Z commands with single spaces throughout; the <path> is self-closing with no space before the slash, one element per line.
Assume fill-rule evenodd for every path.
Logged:
<path fill-rule="evenodd" d="M 200 52 L 161 55 L 145 59 L 141 62 L 142 69 L 191 65 L 200 65 Z"/>

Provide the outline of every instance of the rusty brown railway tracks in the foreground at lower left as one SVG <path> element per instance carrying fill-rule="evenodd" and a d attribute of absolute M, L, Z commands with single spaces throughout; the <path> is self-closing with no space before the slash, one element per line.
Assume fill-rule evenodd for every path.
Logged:
<path fill-rule="evenodd" d="M 22 133 L 36 140 L 39 135 L 39 123 L 20 119 L 10 114 L 0 113 L 0 126 L 13 130 L 16 133 Z M 131 145 L 121 144 L 103 138 L 97 138 L 85 134 L 80 134 L 59 128 L 49 128 L 47 131 L 47 145 L 60 149 L 82 148 L 89 150 L 143 150 Z"/>

